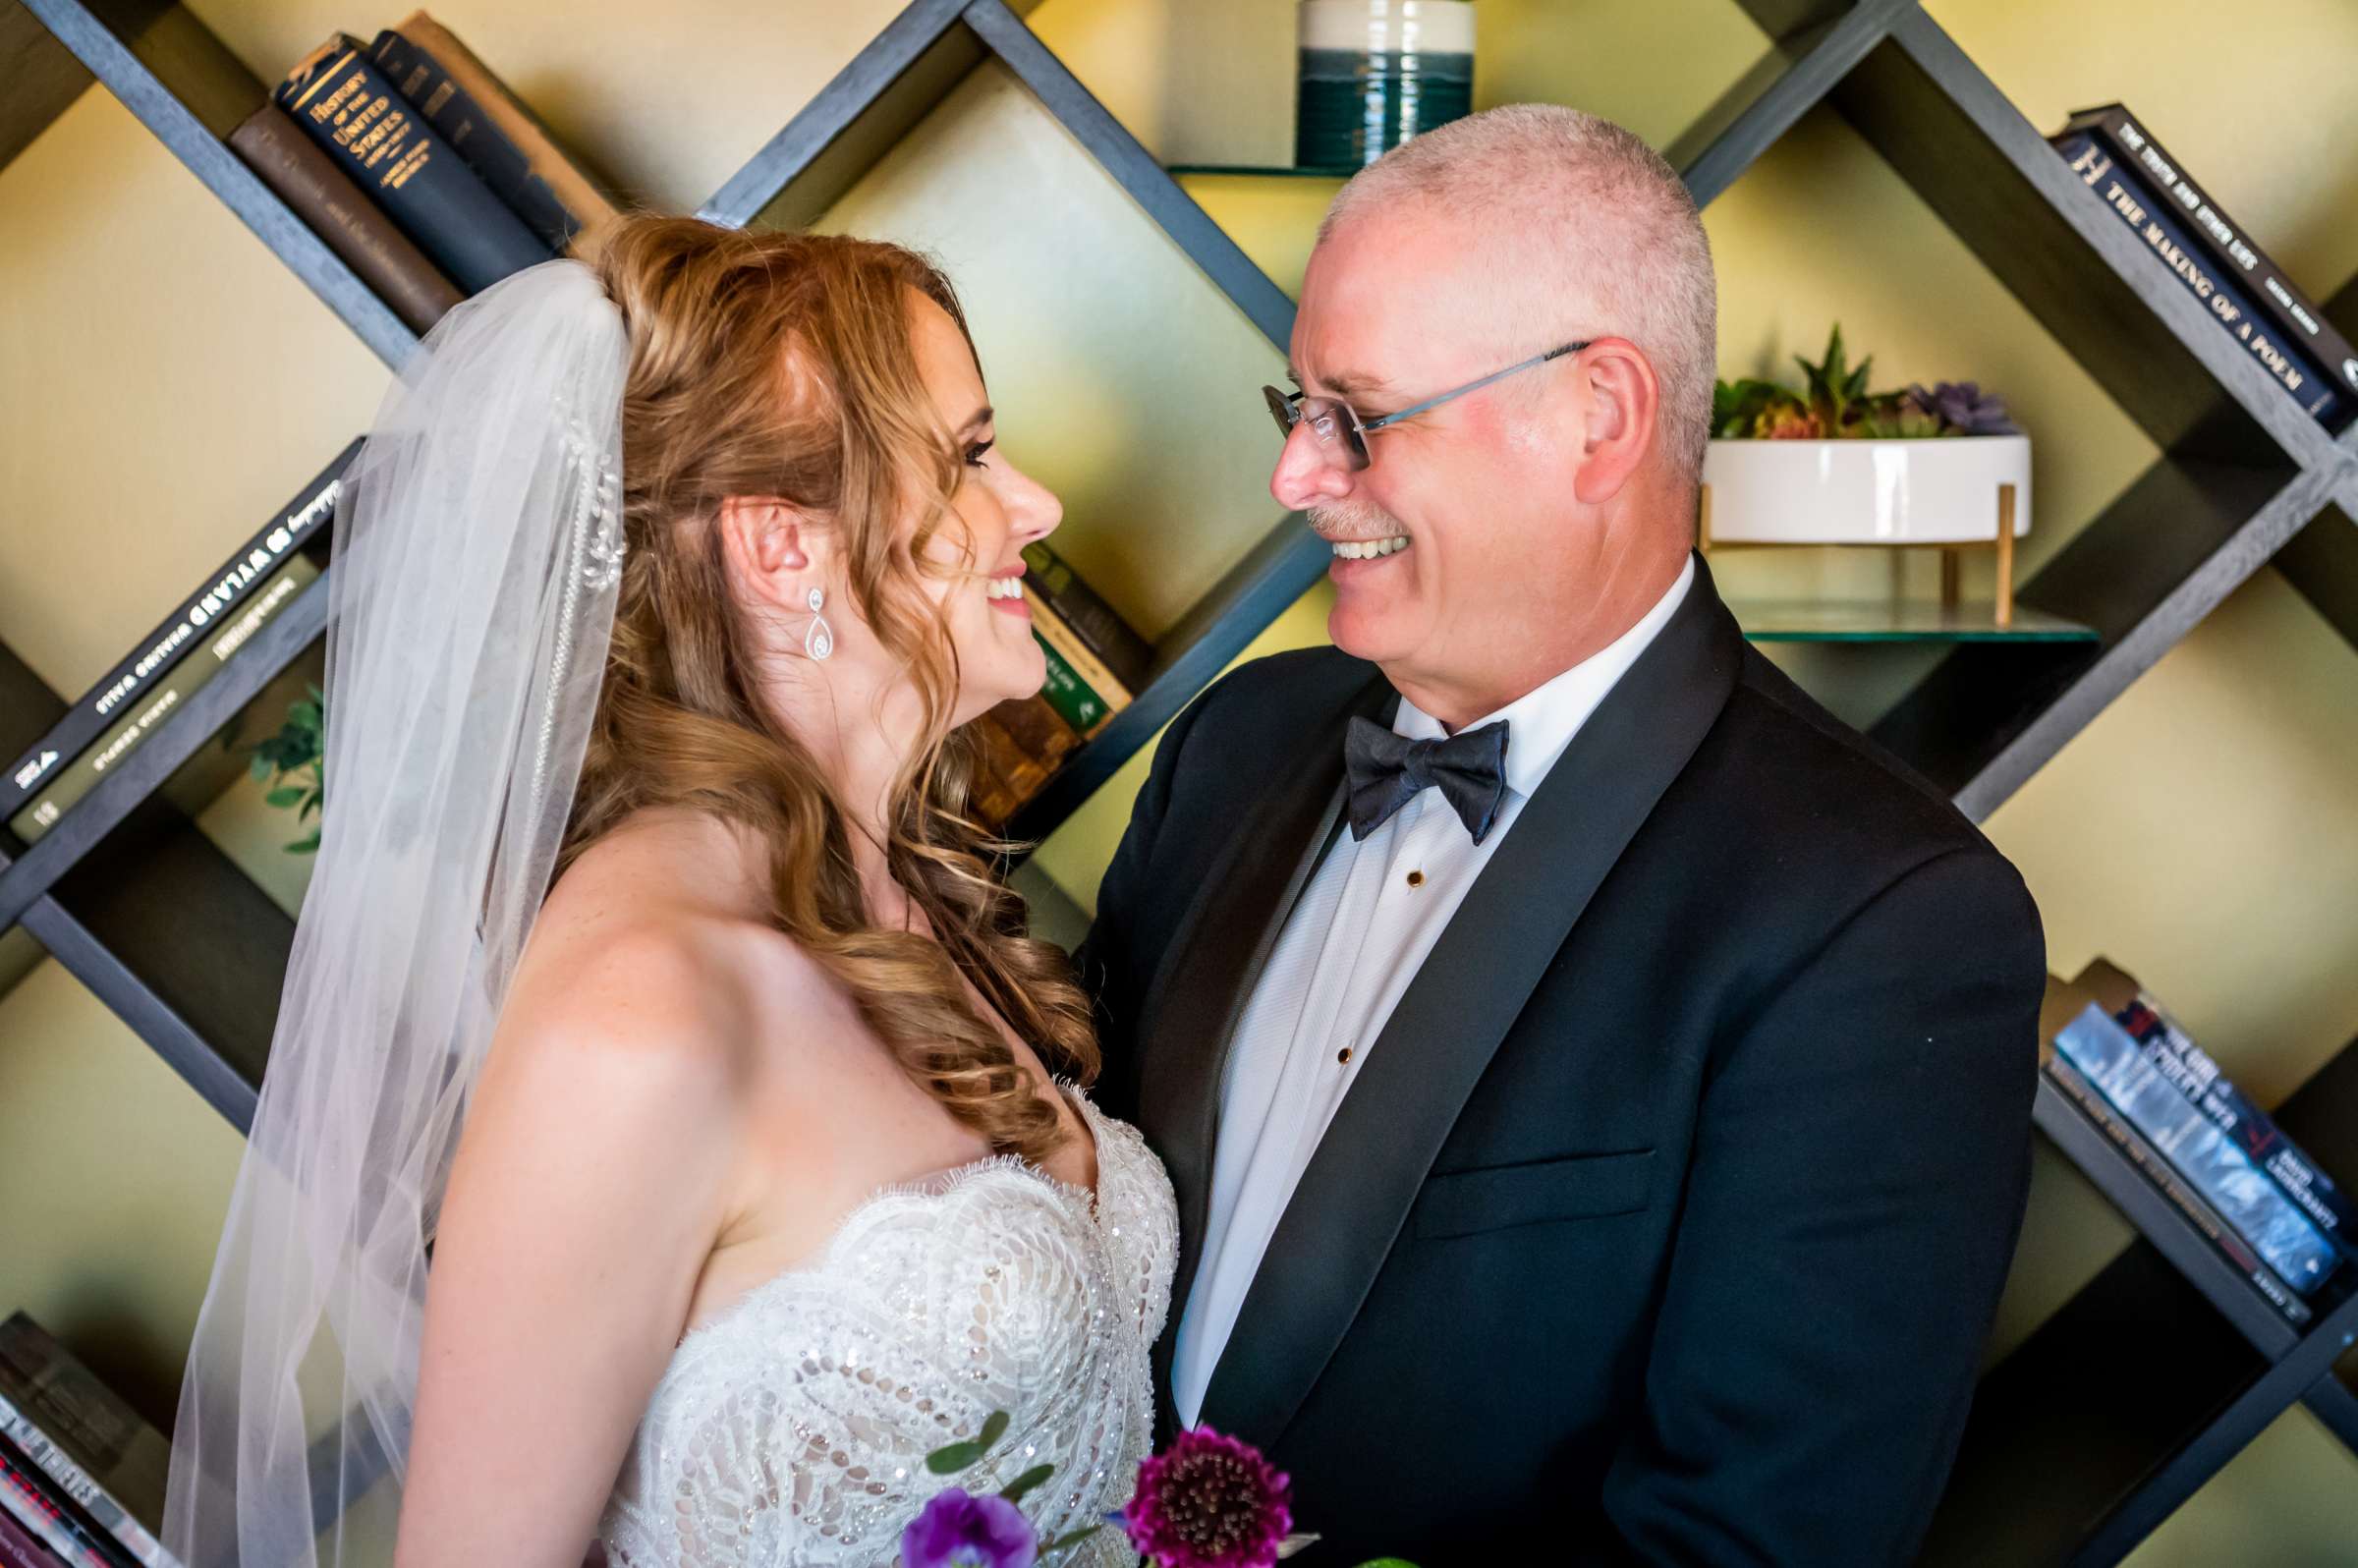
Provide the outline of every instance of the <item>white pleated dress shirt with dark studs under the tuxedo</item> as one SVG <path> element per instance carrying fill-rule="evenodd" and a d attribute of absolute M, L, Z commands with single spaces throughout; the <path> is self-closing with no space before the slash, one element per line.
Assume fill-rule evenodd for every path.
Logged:
<path fill-rule="evenodd" d="M 1615 641 L 1467 729 L 1507 722 L 1507 795 L 1481 844 L 1441 790 L 1424 790 L 1365 839 L 1349 828 L 1302 889 L 1236 1026 L 1219 1085 L 1219 1139 L 1203 1261 L 1179 1318 L 1172 1391 L 1193 1427 L 1269 1238 L 1349 1094 L 1368 1049 L 1514 830 L 1523 802 L 1596 705 L 1653 644 L 1695 580 L 1695 561 Z M 1448 733 L 1401 698 L 1394 733 Z"/>

